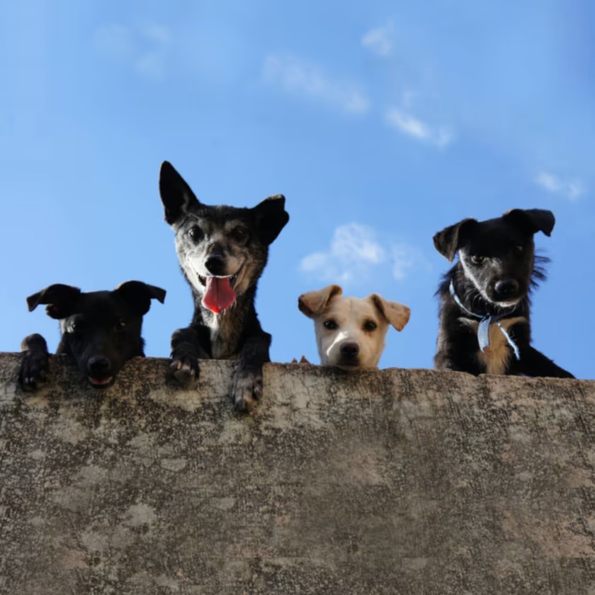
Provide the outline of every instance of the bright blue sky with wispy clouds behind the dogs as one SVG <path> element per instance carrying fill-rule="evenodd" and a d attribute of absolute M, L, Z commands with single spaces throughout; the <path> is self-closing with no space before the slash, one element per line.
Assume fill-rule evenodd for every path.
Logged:
<path fill-rule="evenodd" d="M 339 283 L 409 305 L 381 367 L 432 365 L 464 217 L 548 208 L 533 344 L 595 378 L 595 8 L 589 1 L 32 1 L 0 23 L 0 350 L 57 323 L 26 296 L 139 279 L 168 356 L 190 290 L 163 221 L 169 160 L 207 204 L 283 193 L 257 310 L 273 361 L 317 362 L 297 296 Z"/>

